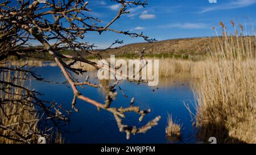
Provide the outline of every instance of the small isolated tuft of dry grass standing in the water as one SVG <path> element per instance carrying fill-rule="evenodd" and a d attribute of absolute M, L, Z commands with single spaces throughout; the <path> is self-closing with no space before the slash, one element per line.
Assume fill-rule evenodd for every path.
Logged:
<path fill-rule="evenodd" d="M 179 124 L 176 124 L 172 120 L 172 116 L 170 114 L 168 114 L 167 122 L 168 122 L 168 126 L 166 127 L 166 135 L 168 137 L 180 138 L 181 137 L 181 133 L 180 133 L 181 126 Z"/>

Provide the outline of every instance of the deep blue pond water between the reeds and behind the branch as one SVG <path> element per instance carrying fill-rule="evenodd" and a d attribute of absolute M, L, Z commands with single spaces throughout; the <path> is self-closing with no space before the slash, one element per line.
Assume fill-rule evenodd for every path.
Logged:
<path fill-rule="evenodd" d="M 36 73 L 41 74 L 49 81 L 65 81 L 57 66 L 37 67 Z M 84 77 L 86 77 L 86 73 Z M 79 79 L 84 77 L 80 76 Z M 90 82 L 98 83 L 95 78 L 90 78 Z M 40 96 L 40 99 L 54 100 L 72 110 L 73 93 L 69 87 L 39 81 L 31 81 L 31 86 L 44 94 Z M 63 135 L 65 143 L 174 143 L 167 139 L 165 133 L 167 114 L 171 114 L 177 123 L 182 124 L 181 140 L 175 143 L 195 143 L 195 128 L 192 127 L 191 116 L 184 106 L 184 103 L 193 104 L 194 100 L 189 81 L 179 82 L 179 79 L 174 81 L 172 78 L 160 78 L 159 86 L 156 86 L 159 89 L 147 86 L 146 83 L 137 85 L 137 83 L 126 81 L 121 82 L 120 86 L 128 99 L 123 97 L 118 90 L 117 100 L 112 103 L 112 106 L 127 107 L 130 104 L 130 99 L 134 97 L 135 106 L 141 107 L 142 110 L 151 109 L 150 114 L 147 114 L 141 123 L 138 122 L 139 115 L 133 113 L 126 115 L 126 118 L 123 119 L 124 124 L 141 127 L 160 115 L 162 119 L 159 124 L 145 134 L 131 135 L 130 139 L 126 140 L 126 134 L 119 132 L 110 112 L 104 110 L 98 112 L 97 108 L 91 104 L 77 100 L 76 107 L 79 112 L 72 112 L 71 122 L 65 125 L 65 129 L 75 133 L 65 133 Z M 101 90 L 88 86 L 79 90 L 86 97 L 104 103 L 105 95 Z M 195 112 L 193 108 L 192 112 Z"/>

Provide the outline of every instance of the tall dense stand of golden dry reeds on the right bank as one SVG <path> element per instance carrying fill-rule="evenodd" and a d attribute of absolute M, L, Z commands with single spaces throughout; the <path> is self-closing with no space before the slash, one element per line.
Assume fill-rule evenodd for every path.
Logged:
<path fill-rule="evenodd" d="M 197 87 L 196 124 L 205 141 L 256 143 L 256 36 L 222 37 L 204 63 Z"/>

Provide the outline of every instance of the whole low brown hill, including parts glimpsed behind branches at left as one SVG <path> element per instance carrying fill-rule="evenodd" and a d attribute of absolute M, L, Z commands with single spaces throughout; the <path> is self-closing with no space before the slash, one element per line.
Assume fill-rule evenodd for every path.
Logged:
<path fill-rule="evenodd" d="M 155 41 L 154 43 L 135 43 L 127 44 L 117 49 L 108 49 L 107 52 L 102 51 L 101 55 L 106 58 L 110 55 L 117 57 L 138 57 L 138 51 L 146 48 L 146 56 L 148 57 L 182 57 L 202 56 L 207 53 L 209 46 L 214 44 L 216 37 L 194 37 L 185 39 L 171 39 L 164 41 Z M 99 51 L 95 50 L 95 51 Z M 72 50 L 63 51 L 66 55 L 77 55 L 77 52 Z M 85 58 L 95 58 L 95 56 L 88 55 L 86 52 L 79 51 L 80 55 Z M 45 60 L 52 60 L 52 56 L 48 53 L 36 52 L 30 53 L 31 58 L 44 58 Z"/>

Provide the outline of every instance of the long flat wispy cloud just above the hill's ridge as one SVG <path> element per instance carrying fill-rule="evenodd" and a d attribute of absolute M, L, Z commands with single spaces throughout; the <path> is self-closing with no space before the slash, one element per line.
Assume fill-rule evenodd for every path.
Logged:
<path fill-rule="evenodd" d="M 183 29 L 201 29 L 210 28 L 209 24 L 205 23 L 170 23 L 158 26 L 158 28 L 183 28 Z"/>

